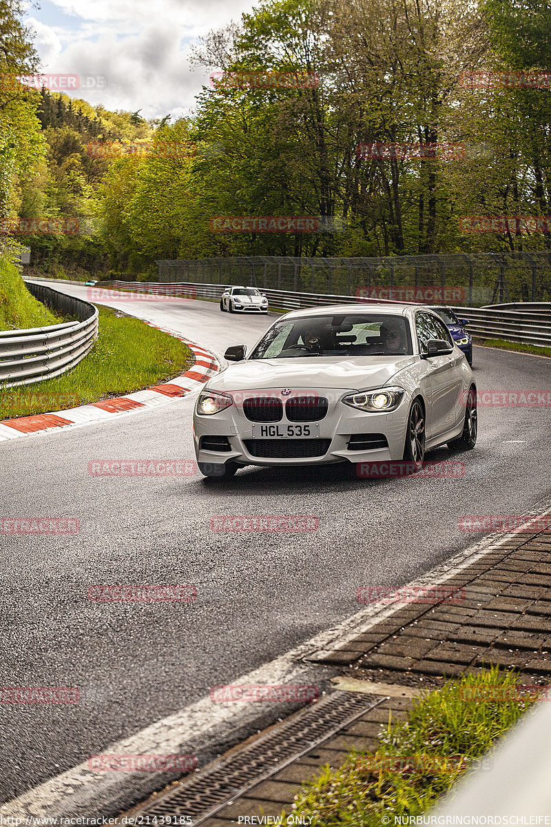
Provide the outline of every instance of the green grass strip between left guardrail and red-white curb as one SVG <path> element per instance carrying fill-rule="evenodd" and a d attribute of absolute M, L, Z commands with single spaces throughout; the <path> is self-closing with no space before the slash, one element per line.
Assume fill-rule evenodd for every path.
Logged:
<path fill-rule="evenodd" d="M 100 307 L 99 337 L 88 356 L 55 379 L 0 389 L 0 418 L 44 414 L 129 394 L 159 385 L 194 363 L 192 351 L 179 339 Z"/>

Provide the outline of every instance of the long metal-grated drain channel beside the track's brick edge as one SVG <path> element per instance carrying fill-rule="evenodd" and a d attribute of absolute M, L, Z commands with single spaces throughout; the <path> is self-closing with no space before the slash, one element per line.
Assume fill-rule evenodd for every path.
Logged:
<path fill-rule="evenodd" d="M 312 749 L 319 748 L 384 700 L 384 696 L 373 698 L 357 692 L 332 692 L 261 735 L 249 746 L 184 778 L 172 790 L 156 796 L 154 801 L 132 809 L 134 823 L 141 823 L 136 822 L 139 815 L 164 816 L 164 824 L 170 823 L 166 820 L 169 816 L 186 815 L 191 818 L 192 825 L 200 825 L 230 801 L 245 795 Z"/>

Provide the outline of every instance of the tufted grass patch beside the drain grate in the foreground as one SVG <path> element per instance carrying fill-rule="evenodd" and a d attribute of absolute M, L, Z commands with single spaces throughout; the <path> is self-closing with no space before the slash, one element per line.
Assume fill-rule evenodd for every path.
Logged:
<path fill-rule="evenodd" d="M 282 823 L 291 812 L 322 827 L 381 827 L 383 815 L 422 815 L 469 767 L 491 766 L 487 751 L 534 703 L 518 699 L 517 681 L 494 667 L 423 692 L 405 722 L 389 721 L 377 752 L 352 751 L 342 767 L 326 766 L 302 786 Z M 515 700 L 463 700 L 469 690 L 495 687 Z"/>

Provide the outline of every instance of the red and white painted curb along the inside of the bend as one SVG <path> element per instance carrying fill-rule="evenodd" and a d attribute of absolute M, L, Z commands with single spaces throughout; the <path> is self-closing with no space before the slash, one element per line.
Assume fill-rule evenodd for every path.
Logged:
<path fill-rule="evenodd" d="M 144 321 L 142 319 L 142 321 Z M 204 347 L 195 342 L 189 342 L 164 327 L 145 322 L 150 327 L 157 327 L 169 336 L 174 336 L 188 345 L 195 356 L 195 365 L 186 370 L 181 376 L 165 382 L 163 385 L 154 385 L 146 390 L 136 390 L 133 394 L 119 396 L 116 399 L 104 399 L 102 402 L 91 402 L 80 405 L 78 408 L 71 408 L 63 411 L 55 411 L 51 414 L 36 414 L 16 419 L 0 420 L 0 441 L 5 439 L 17 439 L 17 437 L 28 437 L 33 433 L 44 433 L 45 431 L 58 431 L 59 428 L 71 428 L 75 425 L 83 425 L 90 422 L 97 422 L 100 419 L 107 419 L 117 414 L 127 414 L 132 410 L 144 408 L 155 408 L 158 405 L 166 404 L 170 399 L 177 399 L 195 390 L 220 370 L 220 362 L 216 356 Z"/>

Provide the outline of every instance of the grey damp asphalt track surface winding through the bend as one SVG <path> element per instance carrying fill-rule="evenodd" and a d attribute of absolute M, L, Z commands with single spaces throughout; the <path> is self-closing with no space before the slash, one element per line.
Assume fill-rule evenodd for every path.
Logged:
<path fill-rule="evenodd" d="M 57 286 L 58 285 L 52 285 Z M 80 287 L 63 288 L 85 296 Z M 107 302 L 104 302 L 107 304 Z M 204 301 L 114 301 L 219 356 L 273 320 Z M 551 361 L 475 348 L 478 390 L 551 390 Z M 549 499 L 549 407 L 479 409 L 463 478 L 351 480 L 335 466 L 192 477 L 88 475 L 97 459 L 194 459 L 195 397 L 0 444 L 2 517 L 67 516 L 70 537 L 3 536 L 2 686 L 78 686 L 76 705 L 0 705 L 0 801 L 102 753 L 362 608 L 482 537 L 464 514 Z M 447 449 L 432 460 L 449 459 Z M 226 514 L 306 514 L 311 533 L 213 533 Z M 93 603 L 94 584 L 182 583 L 192 604 Z"/>

